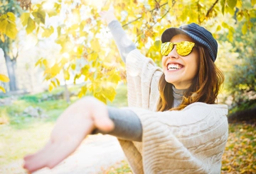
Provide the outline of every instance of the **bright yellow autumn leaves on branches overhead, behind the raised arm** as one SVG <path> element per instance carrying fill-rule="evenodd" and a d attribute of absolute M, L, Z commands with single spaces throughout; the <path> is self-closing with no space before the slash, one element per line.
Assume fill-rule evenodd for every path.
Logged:
<path fill-rule="evenodd" d="M 20 17 L 26 32 L 36 33 L 40 39 L 54 37 L 61 46 L 60 57 L 41 57 L 36 63 L 45 71 L 49 90 L 59 86 L 59 75 L 64 74 L 65 80 L 72 78 L 74 83 L 77 79 L 84 79 L 85 83 L 78 94 L 80 97 L 90 91 L 105 103 L 114 99 L 117 83 L 125 81 L 123 63 L 113 46 L 114 42 L 107 39 L 109 33 L 98 15 L 110 4 L 114 4 L 117 18 L 137 47 L 156 63 L 161 60 L 159 35 L 170 25 L 177 27 L 183 23 L 200 23 L 211 30 L 215 37 L 218 37 L 219 30 L 225 30 L 228 40 L 233 41 L 236 28 L 226 22 L 226 16 L 234 16 L 239 23 L 244 23 L 243 33 L 252 28 L 251 18 L 255 18 L 253 0 L 30 2 L 21 0 L 21 6 L 27 9 Z M 51 18 L 57 19 L 58 24 L 50 23 Z"/>

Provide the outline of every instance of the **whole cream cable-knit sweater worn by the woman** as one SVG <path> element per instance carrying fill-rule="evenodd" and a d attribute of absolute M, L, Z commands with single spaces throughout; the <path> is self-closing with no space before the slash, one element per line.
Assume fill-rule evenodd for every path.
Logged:
<path fill-rule="evenodd" d="M 193 103 L 156 112 L 162 70 L 139 50 L 127 56 L 129 107 L 142 122 L 142 143 L 119 140 L 134 173 L 220 173 L 228 139 L 226 105 Z"/>

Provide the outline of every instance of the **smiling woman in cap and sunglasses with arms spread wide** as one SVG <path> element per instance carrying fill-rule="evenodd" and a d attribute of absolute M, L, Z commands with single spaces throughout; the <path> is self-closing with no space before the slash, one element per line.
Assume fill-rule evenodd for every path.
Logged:
<path fill-rule="evenodd" d="M 228 109 L 215 103 L 223 74 L 214 64 L 218 45 L 211 33 L 195 23 L 165 30 L 160 69 L 112 11 L 100 15 L 126 62 L 129 108 L 78 100 L 60 115 L 48 144 L 25 157 L 24 168 L 53 168 L 94 130 L 119 138 L 134 173 L 220 173 Z"/>

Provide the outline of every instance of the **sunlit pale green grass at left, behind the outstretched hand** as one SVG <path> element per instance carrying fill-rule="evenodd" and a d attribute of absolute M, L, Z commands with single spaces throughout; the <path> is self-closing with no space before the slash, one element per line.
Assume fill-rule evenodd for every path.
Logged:
<path fill-rule="evenodd" d="M 61 89 L 57 88 L 52 94 L 59 92 Z M 126 93 L 126 86 L 118 86 L 116 98 L 108 105 L 127 106 Z M 22 159 L 28 153 L 35 152 L 46 143 L 55 120 L 69 105 L 65 100 L 40 102 L 43 95 L 49 94 L 45 92 L 36 95 L 23 95 L 12 105 L 0 107 L 0 119 L 8 122 L 7 124 L 0 124 L 0 169 L 9 163 Z M 78 98 L 71 98 L 71 103 L 75 100 Z M 48 117 L 37 118 L 22 115 L 23 110 L 28 106 L 42 108 Z"/>

